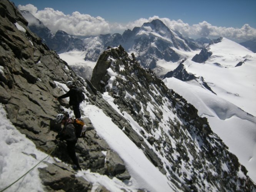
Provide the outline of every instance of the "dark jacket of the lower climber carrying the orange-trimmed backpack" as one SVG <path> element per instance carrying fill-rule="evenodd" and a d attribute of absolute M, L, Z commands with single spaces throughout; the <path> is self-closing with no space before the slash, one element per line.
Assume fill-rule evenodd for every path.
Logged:
<path fill-rule="evenodd" d="M 57 139 L 66 141 L 76 141 L 75 127 L 72 123 L 72 119 L 68 119 L 61 132 L 58 133 Z"/>

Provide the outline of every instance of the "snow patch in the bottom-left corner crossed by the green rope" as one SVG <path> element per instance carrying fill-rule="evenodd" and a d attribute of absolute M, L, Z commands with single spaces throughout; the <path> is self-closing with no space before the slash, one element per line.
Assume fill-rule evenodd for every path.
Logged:
<path fill-rule="evenodd" d="M 35 144 L 12 125 L 2 104 L 0 104 L 0 119 L 0 190 L 2 190 L 47 157 L 47 154 L 38 151 Z M 51 159 L 46 160 L 52 162 Z M 38 165 L 38 167 L 45 166 L 43 163 Z M 5 191 L 43 191 L 39 171 L 33 169 Z"/>

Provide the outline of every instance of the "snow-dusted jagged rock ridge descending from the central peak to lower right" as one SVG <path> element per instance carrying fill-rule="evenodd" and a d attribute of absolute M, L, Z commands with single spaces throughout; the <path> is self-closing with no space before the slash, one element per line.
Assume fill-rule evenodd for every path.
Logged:
<path fill-rule="evenodd" d="M 135 131 L 125 115 L 115 119 L 110 114 L 112 121 L 179 189 L 255 189 L 248 177 L 239 176 L 240 171 L 246 175 L 246 169 L 211 131 L 207 119 L 200 118 L 191 104 L 166 88 L 151 70 L 141 68 L 121 46 L 100 56 L 91 83 L 113 97 L 120 113 L 129 114 L 138 123 Z"/>

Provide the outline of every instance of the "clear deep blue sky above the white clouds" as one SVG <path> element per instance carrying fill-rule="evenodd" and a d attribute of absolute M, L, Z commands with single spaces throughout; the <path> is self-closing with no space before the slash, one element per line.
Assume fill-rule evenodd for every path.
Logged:
<path fill-rule="evenodd" d="M 108 22 L 127 23 L 157 15 L 181 19 L 190 25 L 206 21 L 216 26 L 256 28 L 256 0 L 13 0 L 15 5 L 32 4 L 71 14 L 78 11 Z"/>

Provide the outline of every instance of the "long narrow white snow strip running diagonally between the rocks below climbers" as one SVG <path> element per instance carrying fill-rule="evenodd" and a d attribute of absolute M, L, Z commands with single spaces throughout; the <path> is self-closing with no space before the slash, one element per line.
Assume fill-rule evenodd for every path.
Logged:
<path fill-rule="evenodd" d="M 167 192 L 173 190 L 165 175 L 148 160 L 143 151 L 112 122 L 111 118 L 107 117 L 101 109 L 92 105 L 88 105 L 83 109 L 93 123 L 99 136 L 105 139 L 111 149 L 115 150 L 125 162 L 132 177 L 128 182 L 130 189 L 145 188 L 151 192 Z M 111 186 L 109 190 L 111 190 Z"/>

